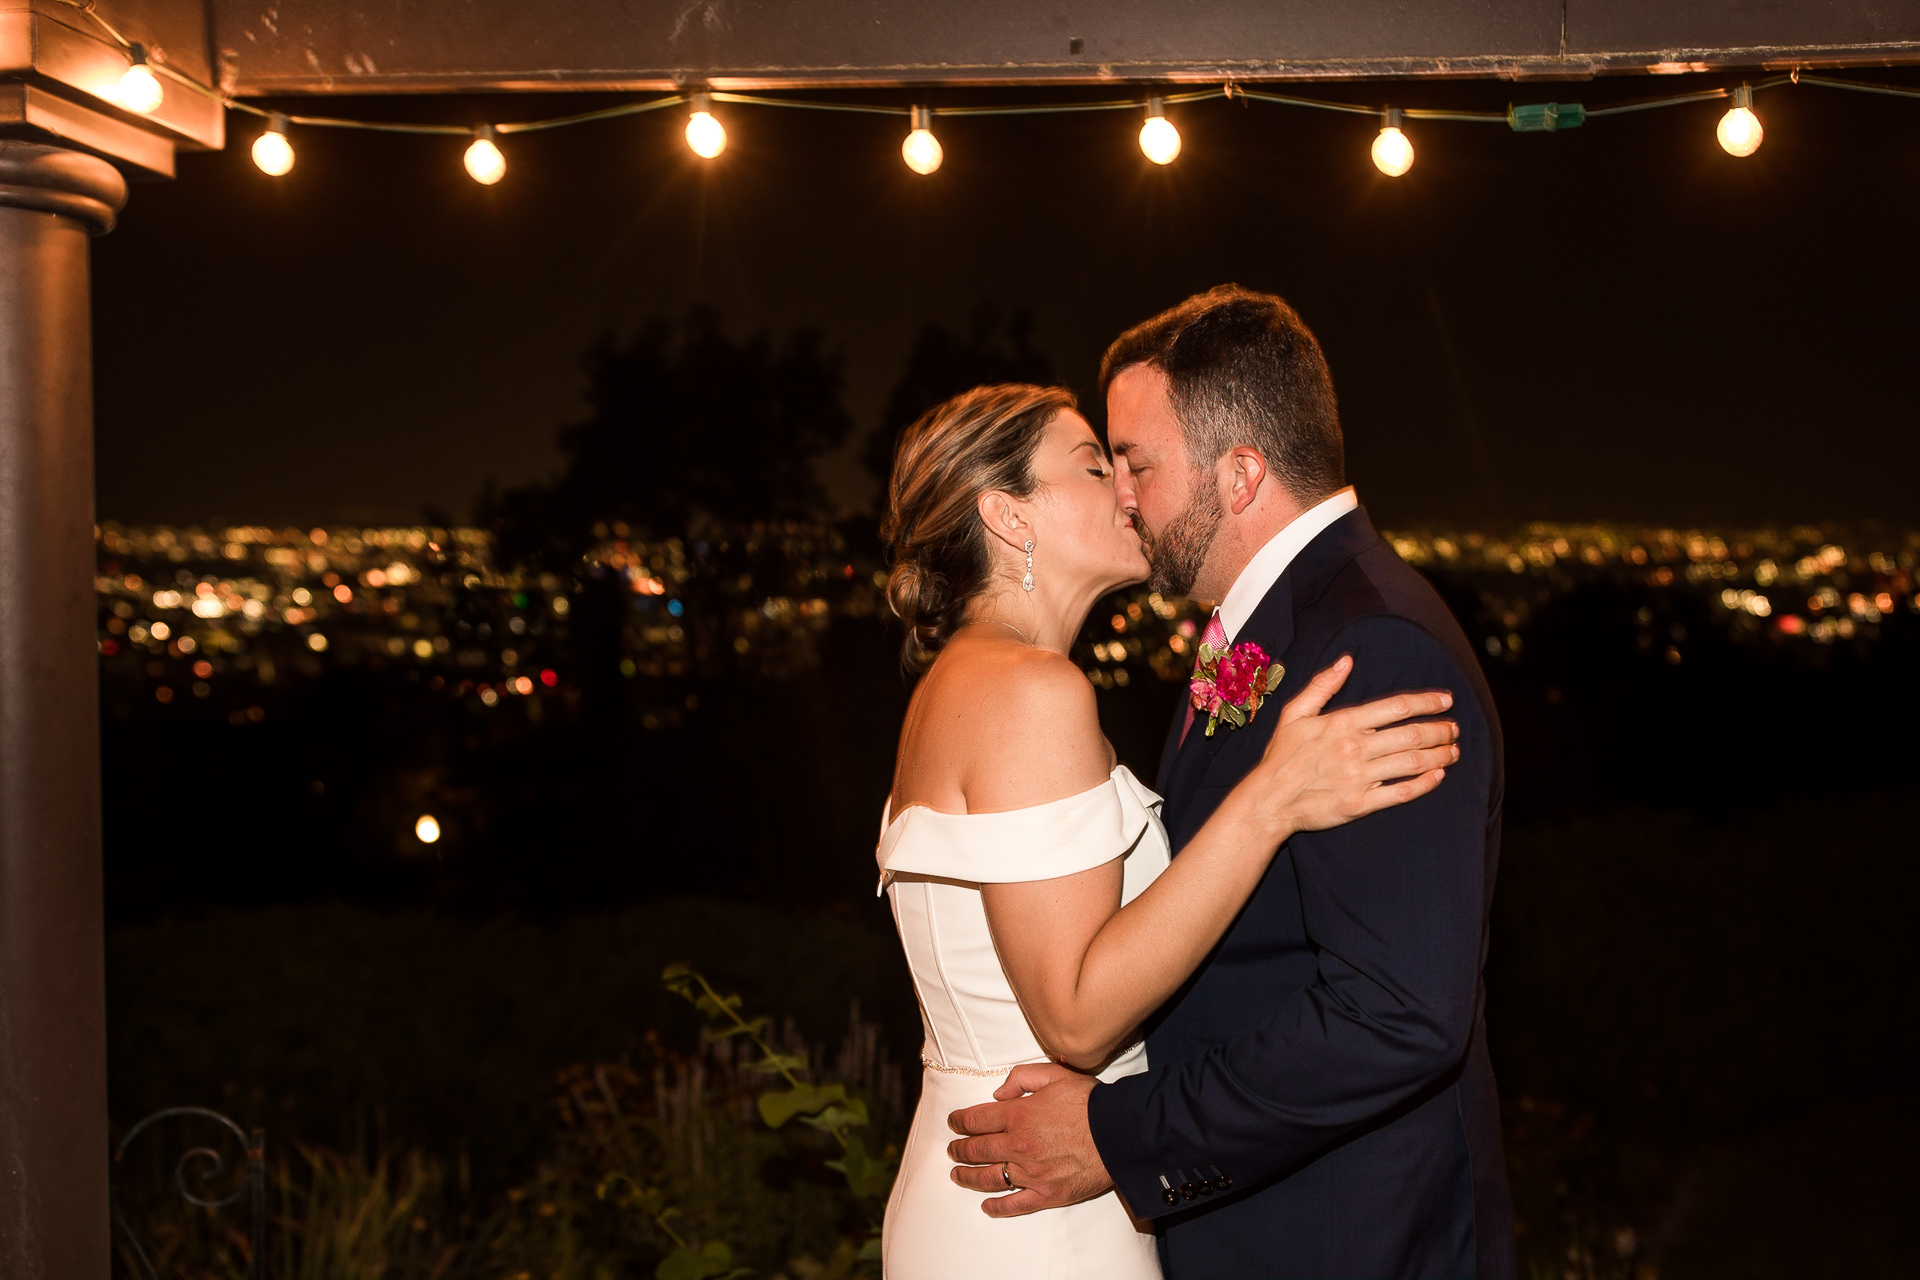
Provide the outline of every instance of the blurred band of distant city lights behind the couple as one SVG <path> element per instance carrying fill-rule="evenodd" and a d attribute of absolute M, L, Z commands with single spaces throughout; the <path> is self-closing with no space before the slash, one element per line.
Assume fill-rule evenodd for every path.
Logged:
<path fill-rule="evenodd" d="M 639 720 L 666 729 L 695 706 L 678 700 L 685 681 L 804 672 L 835 616 L 874 626 L 885 616 L 885 570 L 831 526 L 649 541 L 624 528 L 601 533 L 574 572 L 555 574 L 497 562 L 490 535 L 470 528 L 108 524 L 96 578 L 108 714 L 202 702 L 236 725 L 257 723 L 271 691 L 371 666 L 422 681 L 430 697 L 474 710 L 518 704 L 538 720 L 543 699 L 578 699 L 616 670 L 622 683 L 653 681 Z M 1596 583 L 1645 601 L 1617 622 L 1642 658 L 1672 666 L 1701 639 L 1682 614 L 1711 616 L 1734 643 L 1788 645 L 1807 658 L 1872 643 L 1889 616 L 1920 614 L 1920 533 L 1853 547 L 1818 528 L 1382 535 L 1428 574 L 1473 583 L 1476 603 L 1461 624 L 1488 662 L 1523 660 L 1536 618 Z M 1667 597 L 1705 608 L 1676 610 Z M 1183 679 L 1202 612 L 1144 587 L 1110 604 L 1094 608 L 1075 649 L 1089 679 L 1104 689 Z M 593 620 L 580 624 L 586 614 Z"/>

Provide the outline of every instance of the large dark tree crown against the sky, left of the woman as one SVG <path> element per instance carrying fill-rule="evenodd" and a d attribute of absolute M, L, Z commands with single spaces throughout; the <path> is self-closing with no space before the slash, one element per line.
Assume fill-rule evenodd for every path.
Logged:
<path fill-rule="evenodd" d="M 847 438 L 841 357 L 799 330 L 735 342 L 710 311 L 653 320 L 630 342 L 588 353 L 591 416 L 559 434 L 566 466 L 549 484 L 499 493 L 480 520 L 509 560 L 572 564 L 595 522 L 682 533 L 695 518 L 816 514 L 812 461 Z"/>

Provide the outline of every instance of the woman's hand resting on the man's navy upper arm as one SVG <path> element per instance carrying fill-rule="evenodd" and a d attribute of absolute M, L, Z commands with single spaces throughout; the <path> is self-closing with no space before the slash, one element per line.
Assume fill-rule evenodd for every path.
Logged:
<path fill-rule="evenodd" d="M 1459 760 L 1459 725 L 1425 720 L 1453 706 L 1444 689 L 1323 714 L 1352 670 L 1354 658 L 1340 658 L 1294 695 L 1260 764 L 1236 789 L 1252 819 L 1279 842 L 1417 800 Z"/>

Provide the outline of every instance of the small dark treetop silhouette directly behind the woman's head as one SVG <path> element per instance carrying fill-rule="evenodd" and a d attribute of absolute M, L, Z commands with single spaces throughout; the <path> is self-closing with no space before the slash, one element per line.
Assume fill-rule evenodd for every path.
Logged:
<path fill-rule="evenodd" d="M 862 464 L 879 478 L 885 505 L 887 476 L 893 472 L 893 447 L 900 432 L 943 399 L 977 388 L 983 382 L 1054 380 L 1054 365 L 1033 349 L 1033 313 L 1016 307 L 1012 313 L 998 303 L 981 301 L 973 307 L 968 332 L 956 334 L 945 324 L 927 324 L 914 340 L 906 357 L 906 372 L 887 395 L 879 430 L 868 439 Z"/>

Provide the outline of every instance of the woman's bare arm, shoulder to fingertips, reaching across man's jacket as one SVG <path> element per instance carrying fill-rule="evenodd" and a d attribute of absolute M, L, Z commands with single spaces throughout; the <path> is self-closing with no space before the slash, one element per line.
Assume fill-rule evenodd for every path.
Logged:
<path fill-rule="evenodd" d="M 968 779 L 968 810 L 1023 808 L 1106 777 L 1092 689 L 1060 666 L 1035 666 L 1020 681 L 1002 747 Z M 1261 762 L 1125 908 L 1119 858 L 1077 875 L 983 889 L 995 948 L 1050 1054 L 1071 1067 L 1102 1065 L 1200 967 L 1296 831 L 1340 825 L 1440 785 L 1459 758 L 1457 727 L 1402 722 L 1436 716 L 1452 697 L 1405 693 L 1321 716 L 1348 670 L 1342 658 L 1286 704 Z M 1052 791 L 1037 794 L 1035 779 Z"/>

